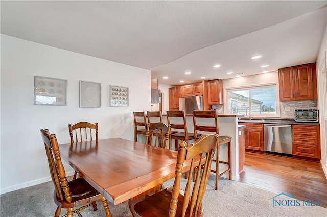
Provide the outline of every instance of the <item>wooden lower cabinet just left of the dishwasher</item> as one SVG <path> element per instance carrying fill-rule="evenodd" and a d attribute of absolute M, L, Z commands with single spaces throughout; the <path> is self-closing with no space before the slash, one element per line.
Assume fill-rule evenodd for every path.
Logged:
<path fill-rule="evenodd" d="M 260 123 L 241 123 L 245 125 L 244 143 L 245 150 L 264 151 L 264 125 Z"/>

